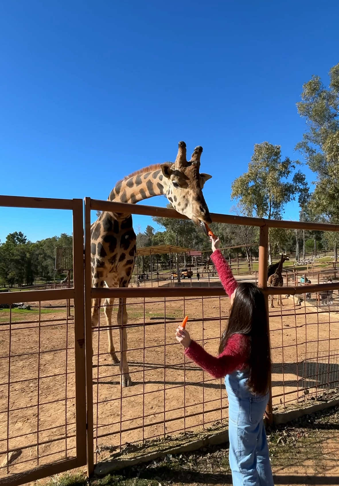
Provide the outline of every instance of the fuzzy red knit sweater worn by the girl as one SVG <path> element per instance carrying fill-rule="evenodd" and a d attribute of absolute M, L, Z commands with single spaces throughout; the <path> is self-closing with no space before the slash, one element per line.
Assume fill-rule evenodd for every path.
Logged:
<path fill-rule="evenodd" d="M 238 285 L 231 268 L 220 250 L 215 250 L 211 259 L 226 293 L 231 297 Z M 222 378 L 235 370 L 246 367 L 249 359 L 249 348 L 249 336 L 233 334 L 219 356 L 212 356 L 193 340 L 190 347 L 185 349 L 185 354 L 214 378 Z"/>

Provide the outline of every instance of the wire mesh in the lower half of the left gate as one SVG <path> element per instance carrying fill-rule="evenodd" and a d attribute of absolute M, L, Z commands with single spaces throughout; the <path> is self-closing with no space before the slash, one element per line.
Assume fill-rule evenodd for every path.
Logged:
<path fill-rule="evenodd" d="M 76 455 L 73 308 L 9 307 L 0 312 L 0 476 Z"/>

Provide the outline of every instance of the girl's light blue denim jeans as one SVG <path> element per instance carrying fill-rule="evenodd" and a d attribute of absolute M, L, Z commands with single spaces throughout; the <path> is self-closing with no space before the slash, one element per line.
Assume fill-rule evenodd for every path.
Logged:
<path fill-rule="evenodd" d="M 234 486 L 273 486 L 263 417 L 269 395 L 247 387 L 248 372 L 225 377 L 229 399 L 230 467 Z"/>

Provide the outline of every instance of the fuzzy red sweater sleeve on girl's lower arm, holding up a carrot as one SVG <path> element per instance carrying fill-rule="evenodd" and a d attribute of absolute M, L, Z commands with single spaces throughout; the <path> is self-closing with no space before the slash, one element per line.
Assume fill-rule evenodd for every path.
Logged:
<path fill-rule="evenodd" d="M 244 334 L 233 334 L 219 356 L 212 356 L 192 340 L 190 347 L 185 349 L 185 354 L 214 378 L 222 378 L 243 368 L 247 363 L 247 339 Z"/>

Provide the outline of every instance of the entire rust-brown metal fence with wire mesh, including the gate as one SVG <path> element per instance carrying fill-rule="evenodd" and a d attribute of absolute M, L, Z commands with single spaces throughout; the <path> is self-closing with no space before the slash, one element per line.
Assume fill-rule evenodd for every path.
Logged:
<path fill-rule="evenodd" d="M 216 353 L 230 310 L 222 287 L 92 288 L 91 210 L 183 216 L 168 208 L 86 198 L 83 258 L 81 201 L 2 196 L 0 205 L 70 209 L 74 237 L 73 288 L 21 292 L 20 301 L 32 302 L 35 317 L 18 319 L 19 311 L 13 309 L 6 311 L 4 320 L 0 314 L 0 396 L 5 397 L 0 399 L 0 423 L 4 424 L 0 427 L 0 463 L 4 464 L 0 483 L 22 484 L 86 461 L 91 473 L 95 463 L 119 458 L 145 441 L 227 424 L 223 381 L 211 379 L 187 360 L 174 337 L 178 323 L 189 315 L 192 337 Z M 274 307 L 269 308 L 273 368 L 268 420 L 280 407 L 327 397 L 338 386 L 339 284 L 312 282 L 303 287 L 288 281 L 288 286 L 267 288 L 268 226 L 332 231 L 339 226 L 222 214 L 213 214 L 212 219 L 260 227 L 259 273 L 253 278 L 265 295 L 283 297 L 279 306 L 275 298 Z M 105 307 L 105 298 L 113 297 L 117 302 L 110 309 Z M 17 298 L 15 293 L 3 293 L 0 303 L 13 304 Z M 45 312 L 51 311 L 51 303 L 54 308 L 66 306 L 67 299 L 71 299 L 71 316 L 66 307 L 60 307 L 60 313 Z M 92 299 L 101 299 L 93 338 Z M 118 324 L 124 299 L 128 323 Z M 110 311 L 112 321 L 107 326 L 105 312 Z M 117 358 L 126 357 L 133 386 L 122 386 L 123 372 L 119 364 L 112 363 L 108 334 Z M 127 336 L 128 347 L 119 345 L 120 334 Z M 20 400 L 22 404 L 17 406 Z"/>

